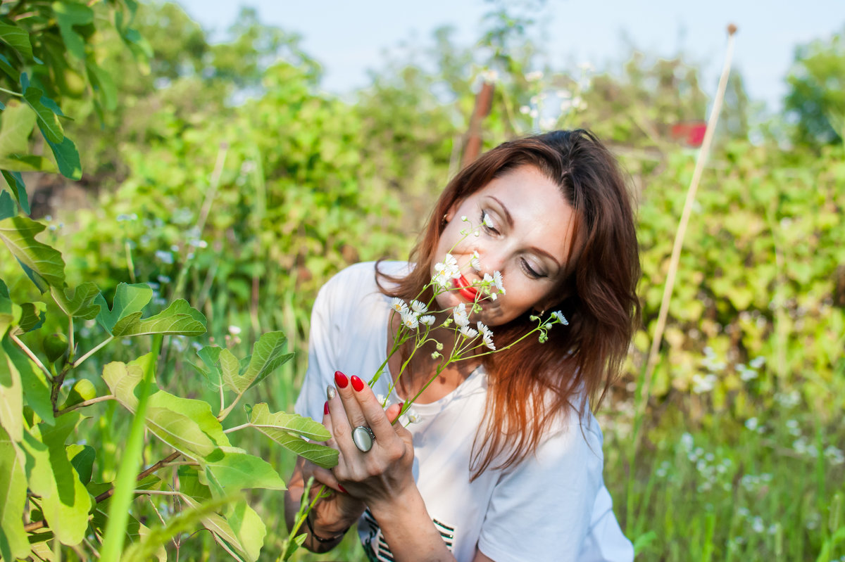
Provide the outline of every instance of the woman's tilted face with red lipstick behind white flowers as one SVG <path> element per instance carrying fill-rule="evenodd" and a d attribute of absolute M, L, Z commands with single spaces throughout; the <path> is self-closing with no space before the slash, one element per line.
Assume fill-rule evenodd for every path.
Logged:
<path fill-rule="evenodd" d="M 477 227 L 478 236 L 461 234 L 468 228 L 462 216 Z M 490 226 L 484 224 L 485 216 Z M 449 222 L 440 236 L 434 263 L 451 253 L 463 278 L 455 279 L 454 290 L 438 295 L 440 308 L 472 303 L 474 291 L 466 287 L 494 271 L 502 274 L 506 293 L 496 300 L 479 300 L 482 311 L 472 316 L 473 321 L 500 326 L 532 308 L 542 310 L 559 300 L 553 289 L 563 277 L 570 255 L 575 211 L 559 186 L 536 167 L 524 165 L 490 181 L 455 203 L 446 219 Z M 473 251 L 480 256 L 478 270 L 470 266 Z M 431 273 L 435 273 L 433 268 Z"/>

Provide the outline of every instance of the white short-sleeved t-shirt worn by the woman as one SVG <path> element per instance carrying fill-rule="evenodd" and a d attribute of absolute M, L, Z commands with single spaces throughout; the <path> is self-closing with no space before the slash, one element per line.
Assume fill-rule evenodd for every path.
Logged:
<path fill-rule="evenodd" d="M 382 262 L 382 272 L 408 271 L 406 262 Z M 368 381 L 386 356 L 390 298 L 375 284 L 373 262 L 347 267 L 319 291 L 311 318 L 308 371 L 296 411 L 322 419 L 326 386 L 335 370 Z M 373 386 L 387 396 L 390 371 Z M 544 435 L 537 453 L 470 482 L 472 442 L 482 421 L 487 376 L 482 367 L 455 391 L 413 405 L 419 421 L 414 478 L 428 515 L 455 559 L 476 548 L 497 562 L 510 560 L 627 561 L 630 541 L 613 516 L 602 480 L 602 432 L 592 414 L 574 411 Z M 391 402 L 399 402 L 395 395 Z M 370 559 L 390 560 L 378 522 L 365 511 L 358 532 Z"/>

